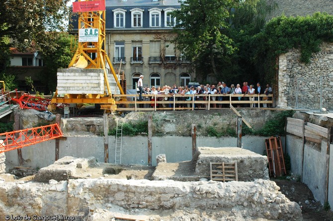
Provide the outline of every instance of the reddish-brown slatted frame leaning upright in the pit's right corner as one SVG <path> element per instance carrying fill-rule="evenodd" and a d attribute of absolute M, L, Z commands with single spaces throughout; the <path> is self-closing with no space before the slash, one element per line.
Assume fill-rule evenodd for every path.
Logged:
<path fill-rule="evenodd" d="M 287 174 L 280 137 L 265 140 L 270 176 Z"/>

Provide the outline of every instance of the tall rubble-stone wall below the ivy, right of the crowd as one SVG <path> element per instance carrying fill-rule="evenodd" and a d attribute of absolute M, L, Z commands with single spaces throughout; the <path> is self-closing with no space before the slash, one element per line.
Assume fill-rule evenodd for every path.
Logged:
<path fill-rule="evenodd" d="M 278 106 L 281 108 L 333 109 L 333 43 L 323 43 L 309 64 L 300 62 L 300 51 L 292 49 L 279 57 Z"/>

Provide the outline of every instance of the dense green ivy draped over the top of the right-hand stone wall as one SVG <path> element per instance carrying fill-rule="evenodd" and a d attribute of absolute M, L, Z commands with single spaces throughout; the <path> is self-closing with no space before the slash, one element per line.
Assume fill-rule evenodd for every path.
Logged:
<path fill-rule="evenodd" d="M 333 42 L 332 15 L 321 12 L 306 17 L 281 15 L 272 18 L 262 32 L 253 37 L 256 48 L 253 59 L 266 73 L 265 78 L 272 81 L 277 65 L 275 60 L 280 54 L 299 48 L 301 62 L 309 63 L 312 53 L 320 51 L 323 41 Z"/>

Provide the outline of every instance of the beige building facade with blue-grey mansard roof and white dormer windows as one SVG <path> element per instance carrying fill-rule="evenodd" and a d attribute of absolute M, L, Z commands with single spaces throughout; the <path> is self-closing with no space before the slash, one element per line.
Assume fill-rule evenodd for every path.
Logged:
<path fill-rule="evenodd" d="M 172 43 L 178 0 L 106 0 L 106 46 L 114 69 L 123 70 L 127 89 L 186 85 L 195 78 L 190 63 Z M 75 21 L 74 21 L 75 22 Z M 74 31 L 78 30 L 74 23 Z"/>

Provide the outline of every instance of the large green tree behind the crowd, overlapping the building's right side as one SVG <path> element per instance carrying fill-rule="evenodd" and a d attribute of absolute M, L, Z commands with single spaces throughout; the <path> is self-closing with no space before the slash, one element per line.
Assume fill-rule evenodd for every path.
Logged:
<path fill-rule="evenodd" d="M 243 65 L 244 59 L 250 63 L 248 43 L 260 32 L 269 8 L 265 0 L 185 0 L 172 13 L 179 21 L 176 47 L 202 78 L 212 73 L 228 82 L 239 80 L 249 72 Z"/>

